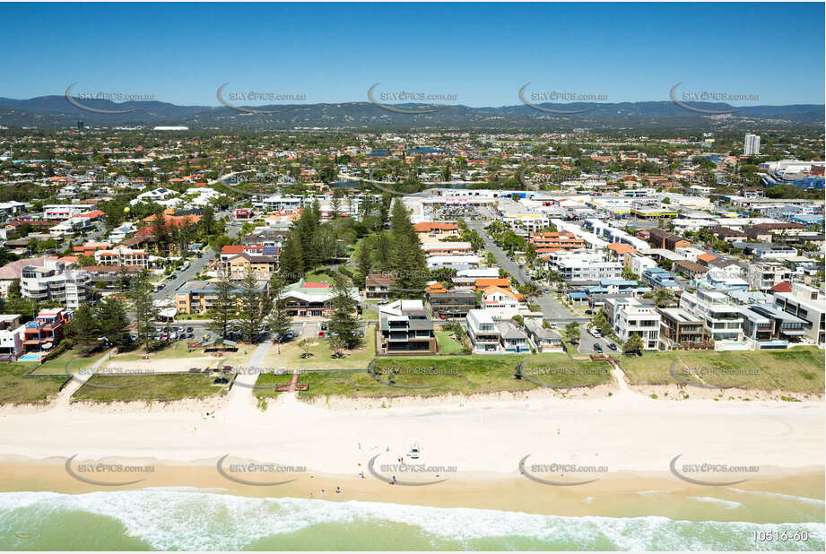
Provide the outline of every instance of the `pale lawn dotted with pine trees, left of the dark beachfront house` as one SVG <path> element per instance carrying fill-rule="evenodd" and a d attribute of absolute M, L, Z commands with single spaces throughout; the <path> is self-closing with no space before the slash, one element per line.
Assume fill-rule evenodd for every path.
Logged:
<path fill-rule="evenodd" d="M 264 365 L 267 368 L 288 369 L 361 369 L 367 368 L 370 360 L 376 357 L 376 333 L 368 328 L 364 344 L 355 351 L 343 351 L 346 356 L 334 359 L 333 349 L 326 339 L 310 339 L 313 346 L 309 348 L 312 358 L 301 358 L 304 353 L 299 346 L 299 339 L 281 345 L 281 354 L 278 347 L 273 345 L 267 352 Z"/>

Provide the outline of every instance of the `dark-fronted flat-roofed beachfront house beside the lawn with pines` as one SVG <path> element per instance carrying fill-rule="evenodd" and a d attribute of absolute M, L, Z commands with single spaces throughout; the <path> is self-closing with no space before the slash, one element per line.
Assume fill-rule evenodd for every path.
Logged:
<path fill-rule="evenodd" d="M 433 322 L 422 300 L 395 300 L 378 309 L 378 353 L 435 354 Z"/>

